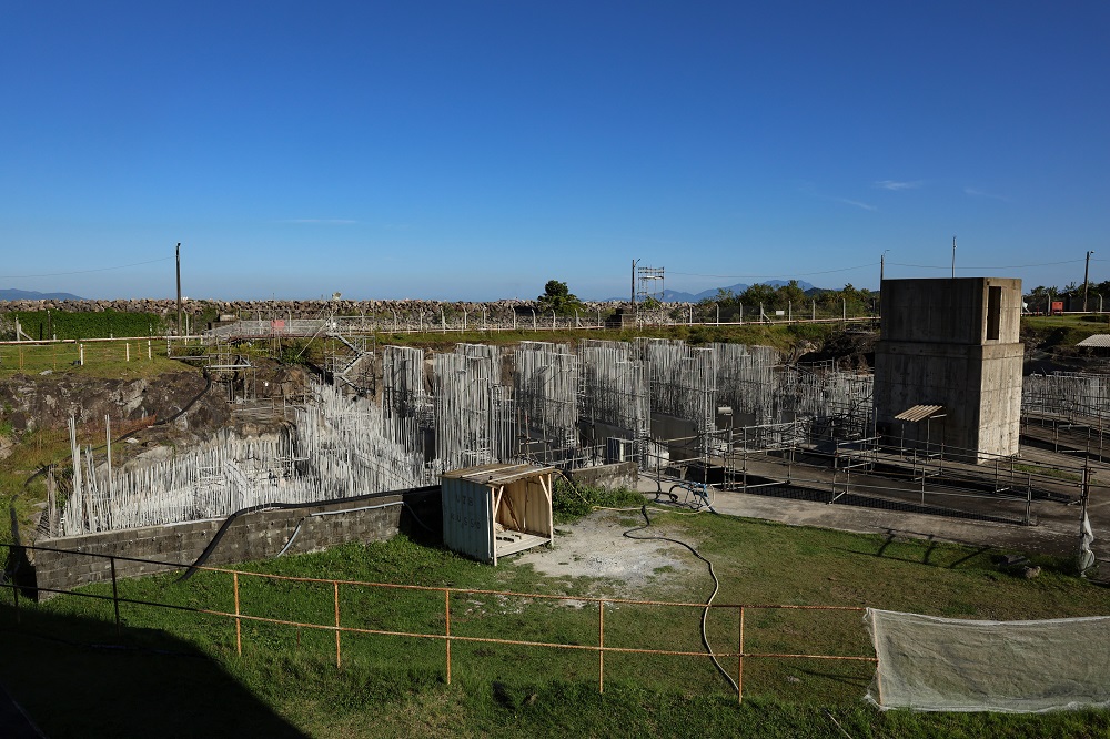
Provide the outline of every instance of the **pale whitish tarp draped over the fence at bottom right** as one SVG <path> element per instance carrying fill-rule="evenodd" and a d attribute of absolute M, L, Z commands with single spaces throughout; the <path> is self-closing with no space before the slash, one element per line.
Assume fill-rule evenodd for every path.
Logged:
<path fill-rule="evenodd" d="M 1040 712 L 1110 706 L 1110 617 L 975 621 L 867 609 L 880 708 Z"/>

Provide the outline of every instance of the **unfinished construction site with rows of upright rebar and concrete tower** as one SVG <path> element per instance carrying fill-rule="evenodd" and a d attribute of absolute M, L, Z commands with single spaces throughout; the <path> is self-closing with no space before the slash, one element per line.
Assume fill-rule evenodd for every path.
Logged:
<path fill-rule="evenodd" d="M 72 492 L 48 502 L 43 528 L 57 538 L 214 519 L 527 463 L 566 475 L 630 467 L 639 489 L 676 504 L 712 506 L 738 492 L 1028 532 L 1056 522 L 1074 534 L 1104 479 L 1106 377 L 1021 377 L 1017 313 L 1006 304 L 1020 294 L 1015 281 L 941 286 L 966 293 L 945 304 L 981 321 L 901 320 L 914 291 L 936 288 L 915 283 L 935 282 L 889 281 L 874 373 L 741 344 L 583 338 L 432 353 L 367 346 L 334 322 L 269 324 L 269 338 L 300 331 L 329 347 L 331 382 L 271 404 L 285 419 L 280 432 L 224 433 L 119 469 L 110 447 L 98 458 L 74 433 Z M 947 325 L 979 331 L 952 337 Z M 249 405 L 251 363 L 234 350 L 244 336 L 263 333 L 220 327 L 191 356 Z"/>

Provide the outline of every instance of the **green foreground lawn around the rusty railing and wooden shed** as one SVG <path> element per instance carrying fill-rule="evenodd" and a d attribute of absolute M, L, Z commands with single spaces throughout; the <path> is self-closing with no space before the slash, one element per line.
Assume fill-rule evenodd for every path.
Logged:
<path fill-rule="evenodd" d="M 596 515 L 622 519 L 616 513 Z M 986 549 L 725 516 L 654 518 L 647 533 L 689 541 L 714 561 L 723 587 L 717 603 L 868 605 L 990 619 L 1110 613 L 1106 589 L 1069 576 L 1068 563 L 1050 558 L 1035 557 L 1043 574 L 1026 580 L 999 571 Z M 561 540 L 556 539 L 556 548 Z M 629 541 L 628 546 L 656 545 Z M 712 590 L 704 565 L 685 554 L 677 556 L 688 559 L 688 567 L 662 568 L 657 581 L 635 595 L 704 600 Z M 624 594 L 617 583 L 546 577 L 514 559 L 488 567 L 403 536 L 241 569 L 577 597 Z M 274 584 L 241 576 L 240 585 L 242 613 L 333 622 L 329 584 Z M 101 585 L 87 591 L 109 595 L 111 589 Z M 231 576 L 222 573 L 200 573 L 186 583 L 169 575 L 128 580 L 120 584 L 120 593 L 180 606 L 234 608 Z M 442 591 L 343 586 L 340 600 L 345 626 L 430 634 L 442 634 L 445 626 Z M 610 605 L 605 614 L 606 644 L 696 651 L 699 615 L 697 608 Z M 593 652 L 455 642 L 448 686 L 438 640 L 347 635 L 342 641 L 343 667 L 336 670 L 334 636 L 327 631 L 244 622 L 240 658 L 233 622 L 214 616 L 124 604 L 122 644 L 130 647 L 125 650 L 74 646 L 115 641 L 110 601 L 67 596 L 42 605 L 24 603 L 22 617 L 19 634 L 39 636 L 6 640 L 14 646 L 0 664 L 0 680 L 52 737 L 188 736 L 185 725 L 179 723 L 184 719 L 174 717 L 196 702 L 209 711 L 205 733 L 214 736 L 241 730 L 244 716 L 263 723 L 278 720 L 270 727 L 273 736 L 281 736 L 281 726 L 289 725 L 315 737 L 476 737 L 507 731 L 842 736 L 834 718 L 852 737 L 1088 737 L 1110 731 L 1106 711 L 879 712 L 860 702 L 870 668 L 859 664 L 749 659 L 745 702 L 737 706 L 735 694 L 704 658 L 607 655 L 605 692 L 598 695 Z M 0 626 L 11 629 L 12 621 L 11 607 L 6 606 Z M 737 626 L 735 611 L 714 611 L 710 641 L 720 650 L 734 649 Z M 867 654 L 868 649 L 859 611 L 751 610 L 745 628 L 746 648 L 751 651 Z M 456 594 L 452 634 L 592 645 L 597 639 L 597 610 L 589 604 L 573 608 L 538 599 Z M 729 669 L 735 671 L 731 665 Z M 82 675 L 83 679 L 78 677 Z M 151 695 L 149 703 L 128 701 L 130 725 L 119 716 L 105 725 L 99 716 L 103 709 L 93 710 L 95 686 L 135 685 L 142 696 L 153 690 L 135 676 L 159 675 L 148 679 L 190 686 L 188 699 L 170 692 Z M 205 681 L 221 686 L 231 698 L 220 699 Z M 91 697 L 84 697 L 87 690 L 92 690 Z M 72 710 L 53 710 L 60 695 Z M 229 732 L 221 733 L 222 727 Z"/>

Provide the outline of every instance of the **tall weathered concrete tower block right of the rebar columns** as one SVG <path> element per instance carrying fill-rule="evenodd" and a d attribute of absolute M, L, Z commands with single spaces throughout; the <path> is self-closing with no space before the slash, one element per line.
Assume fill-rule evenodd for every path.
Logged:
<path fill-rule="evenodd" d="M 875 347 L 876 427 L 891 444 L 985 460 L 1018 453 L 1021 281 L 885 280 Z M 896 416 L 940 405 L 916 422 Z M 955 448 L 953 448 L 955 447 Z"/>

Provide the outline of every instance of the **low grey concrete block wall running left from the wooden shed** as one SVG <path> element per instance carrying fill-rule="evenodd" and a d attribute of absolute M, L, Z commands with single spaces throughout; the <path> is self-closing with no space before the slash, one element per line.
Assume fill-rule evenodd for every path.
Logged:
<path fill-rule="evenodd" d="M 383 495 L 363 500 L 344 500 L 290 510 L 262 510 L 238 517 L 228 527 L 220 544 L 205 563 L 213 567 L 273 557 L 296 534 L 289 554 L 321 551 L 345 541 L 382 541 L 414 524 L 412 509 L 433 532 L 442 532 L 438 488 Z M 387 507 L 372 507 L 372 506 Z M 87 534 L 83 536 L 40 539 L 36 547 L 68 551 L 29 551 L 39 588 L 68 590 L 80 585 L 111 579 L 111 563 L 88 554 L 134 557 L 191 565 L 201 556 L 223 519 L 190 522 L 171 526 Z M 176 569 L 170 566 L 115 560 L 117 577 L 135 577 Z M 40 590 L 40 598 L 52 594 Z"/>

